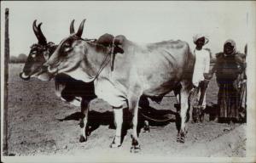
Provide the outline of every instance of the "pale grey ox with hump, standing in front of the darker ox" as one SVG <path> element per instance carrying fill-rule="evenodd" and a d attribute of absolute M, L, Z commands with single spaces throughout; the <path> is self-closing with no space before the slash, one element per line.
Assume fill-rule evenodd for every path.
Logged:
<path fill-rule="evenodd" d="M 183 143 L 189 91 L 192 88 L 191 63 L 194 63 L 189 44 L 183 41 L 166 41 L 139 45 L 124 36 L 118 36 L 110 39 L 108 44 L 111 46 L 106 48 L 81 38 L 84 21 L 79 25 L 77 33 L 73 30 L 73 23 L 71 24 L 71 35 L 61 41 L 45 64 L 49 73 L 65 73 L 84 82 L 95 82 L 96 96 L 113 106 L 116 132 L 111 147 L 121 144 L 123 110 L 120 108 L 126 102 L 133 115 L 131 151 L 134 152 L 140 149 L 137 137 L 140 97 L 146 95 L 159 98 L 181 84 L 181 124 L 177 141 Z"/>

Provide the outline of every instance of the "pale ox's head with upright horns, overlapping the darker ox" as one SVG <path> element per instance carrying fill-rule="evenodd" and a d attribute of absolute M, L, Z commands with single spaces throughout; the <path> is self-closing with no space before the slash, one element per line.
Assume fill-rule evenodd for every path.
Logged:
<path fill-rule="evenodd" d="M 52 74 L 67 72 L 74 70 L 79 66 L 79 63 L 84 58 L 84 53 L 86 53 L 86 42 L 81 38 L 84 21 L 79 25 L 79 30 L 74 31 L 73 23 L 70 25 L 70 36 L 64 38 L 58 47 L 55 49 L 55 52 L 44 64 L 48 66 L 48 70 Z"/>

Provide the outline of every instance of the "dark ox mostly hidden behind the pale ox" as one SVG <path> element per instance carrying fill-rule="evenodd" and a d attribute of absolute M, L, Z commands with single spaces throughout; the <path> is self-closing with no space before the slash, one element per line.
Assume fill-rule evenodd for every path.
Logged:
<path fill-rule="evenodd" d="M 47 42 L 41 31 L 41 25 L 42 23 L 37 26 L 36 20 L 32 25 L 33 31 L 38 38 L 38 43 L 32 45 L 26 64 L 20 73 L 20 78 L 23 80 L 37 77 L 40 80 L 49 81 L 53 77 L 44 70 L 43 65 L 55 51 L 57 45 L 53 42 Z M 107 46 L 104 40 L 104 38 L 100 38 L 97 42 Z M 84 118 L 81 118 L 79 123 L 81 127 L 79 142 L 86 141 L 87 136 L 90 134 L 87 126 L 89 104 L 92 99 L 96 98 L 94 83 L 75 80 L 73 77 L 63 73 L 56 75 L 54 80 L 55 94 L 62 100 L 81 107 L 81 113 Z M 148 99 L 146 97 L 142 97 L 140 102 L 141 107 L 148 107 Z"/>

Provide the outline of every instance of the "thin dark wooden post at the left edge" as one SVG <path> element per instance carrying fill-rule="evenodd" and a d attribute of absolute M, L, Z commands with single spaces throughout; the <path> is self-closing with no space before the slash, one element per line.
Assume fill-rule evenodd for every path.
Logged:
<path fill-rule="evenodd" d="M 8 155 L 9 8 L 5 8 L 3 155 Z"/>

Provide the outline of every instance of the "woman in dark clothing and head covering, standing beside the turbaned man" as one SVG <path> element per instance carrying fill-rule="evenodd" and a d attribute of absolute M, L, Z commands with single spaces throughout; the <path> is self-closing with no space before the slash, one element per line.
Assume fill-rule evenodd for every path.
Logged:
<path fill-rule="evenodd" d="M 224 42 L 224 52 L 216 54 L 216 64 L 212 73 L 216 73 L 218 82 L 218 121 L 231 123 L 239 120 L 240 75 L 245 70 L 245 54 L 236 52 L 236 42 Z"/>

